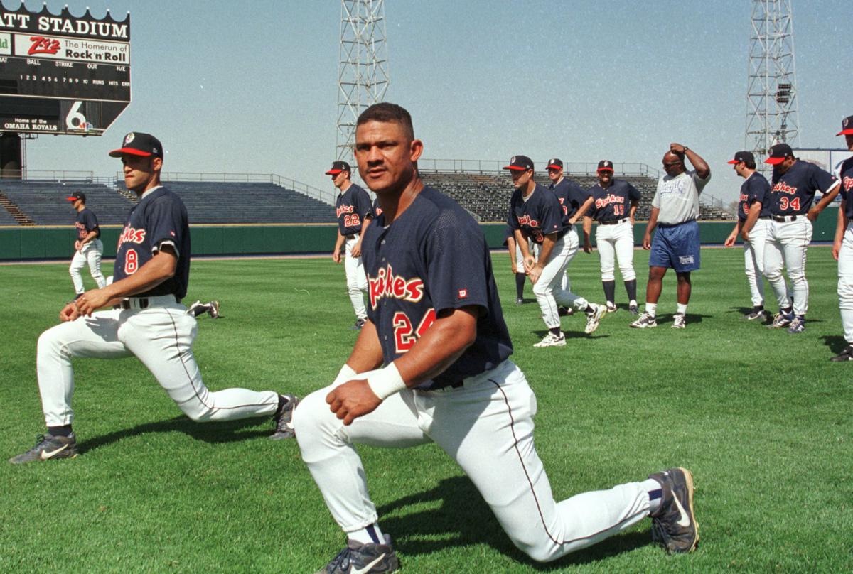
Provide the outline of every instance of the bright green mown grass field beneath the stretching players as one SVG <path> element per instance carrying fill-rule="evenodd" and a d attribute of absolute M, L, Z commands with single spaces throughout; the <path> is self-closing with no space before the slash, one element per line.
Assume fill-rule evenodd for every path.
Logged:
<path fill-rule="evenodd" d="M 583 335 L 582 317 L 566 317 L 566 347 L 540 350 L 530 287 L 530 303 L 514 306 L 508 257 L 495 256 L 514 361 L 537 391 L 537 450 L 554 495 L 689 467 L 698 551 L 667 556 L 649 542 L 646 520 L 537 565 L 438 448 L 360 448 L 403 571 L 853 570 L 853 365 L 828 360 L 844 346 L 829 248 L 809 249 L 799 335 L 741 319 L 749 293 L 740 249 L 702 258 L 687 329 L 670 329 L 670 274 L 659 328 L 628 328 L 619 282 L 623 306 L 594 336 Z M 641 299 L 646 265 L 636 252 Z M 570 276 L 577 293 L 601 301 L 597 255 L 578 254 Z M 36 339 L 73 289 L 67 264 L 22 264 L 0 267 L 0 293 L 5 459 L 44 430 Z M 304 395 L 334 377 L 356 336 L 344 271 L 328 258 L 198 261 L 194 299 L 222 302 L 222 319 L 200 318 L 194 347 L 214 390 Z M 75 371 L 81 455 L 0 462 L 0 571 L 310 572 L 343 546 L 297 444 L 267 440 L 269 420 L 192 423 L 135 359 L 78 360 Z"/>

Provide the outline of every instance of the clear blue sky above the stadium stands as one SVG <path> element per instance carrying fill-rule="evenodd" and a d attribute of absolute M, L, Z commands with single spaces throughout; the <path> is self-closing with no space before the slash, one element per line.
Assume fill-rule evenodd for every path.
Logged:
<path fill-rule="evenodd" d="M 133 101 L 105 136 L 28 142 L 29 169 L 112 175 L 107 151 L 139 130 L 162 140 L 166 171 L 276 173 L 331 189 L 338 0 L 67 3 L 78 15 L 131 12 Z M 47 4 L 58 13 L 66 0 Z M 792 4 L 801 144 L 842 147 L 849 7 Z M 412 113 L 427 158 L 657 168 L 676 141 L 711 164 L 706 193 L 731 200 L 740 178 L 725 162 L 744 145 L 750 12 L 747 0 L 386 0 L 386 100 Z"/>

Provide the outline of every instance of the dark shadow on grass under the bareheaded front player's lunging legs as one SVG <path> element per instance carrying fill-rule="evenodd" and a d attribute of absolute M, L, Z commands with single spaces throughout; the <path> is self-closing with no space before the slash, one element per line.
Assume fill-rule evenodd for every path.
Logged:
<path fill-rule="evenodd" d="M 407 512 L 407 507 L 421 505 L 430 508 Z M 379 515 L 382 517 L 382 530 L 394 533 L 395 545 L 403 554 L 432 554 L 446 550 L 449 546 L 464 548 L 488 544 L 501 554 L 507 554 L 541 571 L 565 568 L 569 564 L 596 562 L 646 546 L 651 541 L 648 530 L 633 531 L 612 536 L 553 563 L 535 562 L 509 541 L 479 491 L 465 476 L 444 478 L 432 490 L 403 496 L 380 507 Z"/>

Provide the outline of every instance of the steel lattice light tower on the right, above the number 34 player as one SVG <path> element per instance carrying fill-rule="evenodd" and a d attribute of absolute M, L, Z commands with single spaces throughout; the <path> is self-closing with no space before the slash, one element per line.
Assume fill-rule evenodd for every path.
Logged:
<path fill-rule="evenodd" d="M 775 143 L 799 147 L 791 0 L 752 0 L 746 149 L 763 161 Z"/>

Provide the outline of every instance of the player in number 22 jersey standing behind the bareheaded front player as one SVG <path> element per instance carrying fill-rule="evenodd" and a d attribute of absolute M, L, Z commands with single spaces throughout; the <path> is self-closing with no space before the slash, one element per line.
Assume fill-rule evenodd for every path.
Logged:
<path fill-rule="evenodd" d="M 368 291 L 368 283 L 364 278 L 362 266 L 362 237 L 373 219 L 373 211 L 368 192 L 351 182 L 350 173 L 348 163 L 334 161 L 332 169 L 327 171 L 326 175 L 332 176 L 332 183 L 340 192 L 334 200 L 335 214 L 338 217 L 338 240 L 334 242 L 332 260 L 340 263 L 341 248 L 346 245 L 346 291 L 350 294 L 352 309 L 356 312 L 356 324 L 352 328 L 360 329 L 368 316 L 364 310 L 364 294 Z"/>

